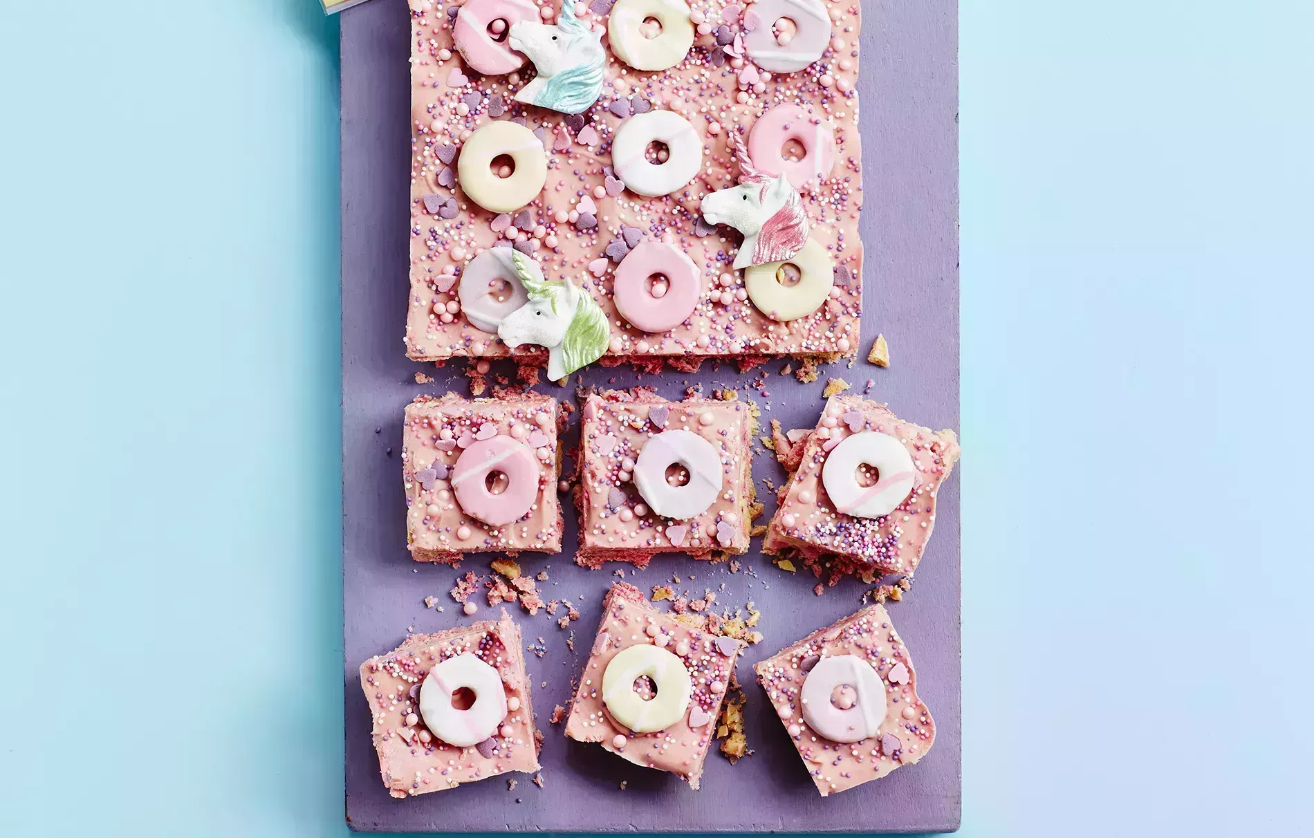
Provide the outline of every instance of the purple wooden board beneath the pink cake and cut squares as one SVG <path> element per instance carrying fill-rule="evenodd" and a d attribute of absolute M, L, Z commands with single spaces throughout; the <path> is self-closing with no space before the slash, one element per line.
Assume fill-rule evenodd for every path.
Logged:
<path fill-rule="evenodd" d="M 933 428 L 958 427 L 958 129 L 955 0 L 865 4 L 862 33 L 862 131 L 866 244 L 863 347 L 884 332 L 894 366 L 866 361 L 825 373 L 857 384 L 875 380 L 871 395 L 905 419 Z M 543 637 L 545 657 L 528 657 L 533 707 L 545 734 L 541 762 L 545 788 L 527 775 L 506 775 L 457 789 L 393 800 L 378 779 L 369 741 L 369 708 L 357 667 L 390 650 L 407 629 L 432 632 L 468 621 L 448 598 L 457 575 L 451 567 L 417 565 L 406 552 L 401 486 L 401 412 L 420 393 L 448 387 L 466 391 L 460 365 L 436 370 L 403 355 L 407 294 L 407 198 L 410 112 L 409 20 L 401 0 L 374 0 L 342 14 L 342 368 L 343 368 L 343 633 L 346 661 L 347 818 L 355 829 L 390 831 L 947 831 L 958 829 L 961 775 L 959 675 L 959 519 L 958 478 L 940 493 L 936 535 L 912 592 L 890 611 L 917 666 L 921 696 L 937 722 L 932 751 L 916 766 L 828 799 L 817 796 L 783 728 L 766 708 L 752 665 L 812 629 L 855 611 L 870 587 L 855 581 L 812 594 L 811 575 L 791 575 L 754 550 L 744 570 L 687 557 L 656 558 L 627 579 L 640 588 L 668 583 L 681 590 L 719 590 L 719 606 L 753 600 L 762 611 L 766 640 L 750 648 L 738 674 L 753 755 L 731 766 L 719 753 L 707 759 L 703 788 L 690 791 L 674 776 L 632 766 L 598 746 L 568 741 L 548 725 L 555 704 L 568 704 L 600 613 L 603 591 L 615 579 L 577 567 L 576 521 L 566 514 L 562 556 L 522 556 L 524 567 L 551 566 L 540 583 L 544 599 L 569 598 L 581 612 L 572 625 L 576 653 L 541 612 L 516 611 L 527 641 Z M 778 418 L 786 428 L 816 422 L 825 381 L 802 385 L 767 369 L 771 395 L 753 394 L 763 424 Z M 419 386 L 417 372 L 436 378 Z M 733 366 L 711 365 L 696 374 L 636 376 L 628 369 L 593 369 L 585 382 L 610 386 L 656 385 L 678 398 L 694 382 L 735 385 L 746 377 Z M 572 382 L 574 384 L 574 382 Z M 537 387 L 557 398 L 574 389 Z M 376 432 L 376 430 L 381 430 Z M 566 435 L 578 439 L 578 426 Z M 386 449 L 392 448 L 392 456 Z M 968 452 L 968 456 L 971 452 Z M 761 483 L 782 481 L 769 452 L 757 457 L 758 494 L 774 510 Z M 765 520 L 765 519 L 763 519 Z M 464 562 L 487 573 L 489 557 Z M 749 573 L 752 569 L 756 575 Z M 692 573 L 696 578 L 690 579 Z M 428 609 L 438 596 L 444 612 Z M 583 600 L 578 596 L 583 595 Z M 480 617 L 493 612 L 484 607 Z M 547 682 L 547 687 L 540 684 Z M 507 789 L 507 778 L 519 780 Z M 620 791 L 620 780 L 627 789 Z"/>

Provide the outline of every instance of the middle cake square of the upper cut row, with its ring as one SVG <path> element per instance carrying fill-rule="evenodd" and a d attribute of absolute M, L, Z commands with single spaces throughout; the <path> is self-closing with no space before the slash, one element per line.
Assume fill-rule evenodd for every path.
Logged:
<path fill-rule="evenodd" d="M 645 567 L 657 553 L 745 553 L 756 408 L 737 399 L 590 393 L 581 406 L 576 562 Z"/>

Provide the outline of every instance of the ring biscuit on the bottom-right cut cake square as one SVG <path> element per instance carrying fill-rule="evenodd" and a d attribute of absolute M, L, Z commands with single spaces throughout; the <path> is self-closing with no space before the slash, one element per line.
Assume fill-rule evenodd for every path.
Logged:
<path fill-rule="evenodd" d="M 832 700 L 841 687 L 855 694 L 849 707 Z M 886 684 L 871 665 L 851 654 L 821 658 L 803 682 L 803 720 L 832 742 L 861 742 L 880 733 L 888 707 Z"/>

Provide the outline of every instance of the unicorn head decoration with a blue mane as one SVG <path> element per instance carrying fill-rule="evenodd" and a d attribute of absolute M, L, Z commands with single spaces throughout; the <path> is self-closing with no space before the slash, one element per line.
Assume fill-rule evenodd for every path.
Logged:
<path fill-rule="evenodd" d="M 507 43 L 528 55 L 539 71 L 533 81 L 516 92 L 515 101 L 561 113 L 583 113 L 602 95 L 602 71 L 607 63 L 602 32 L 579 21 L 573 3 L 561 4 L 556 26 L 515 21 Z"/>

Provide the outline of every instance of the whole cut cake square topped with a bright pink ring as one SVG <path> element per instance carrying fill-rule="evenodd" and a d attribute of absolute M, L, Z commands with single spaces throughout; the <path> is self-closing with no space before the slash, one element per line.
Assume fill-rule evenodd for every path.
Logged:
<path fill-rule="evenodd" d="M 422 395 L 406 406 L 406 545 L 420 562 L 463 553 L 561 550 L 557 499 L 561 406 L 526 393 L 468 401 Z"/>

